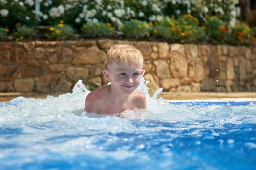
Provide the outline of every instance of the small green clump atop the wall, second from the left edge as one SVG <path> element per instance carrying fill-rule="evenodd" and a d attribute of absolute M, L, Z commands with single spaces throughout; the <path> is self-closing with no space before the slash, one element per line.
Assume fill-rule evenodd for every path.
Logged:
<path fill-rule="evenodd" d="M 19 25 L 16 31 L 12 34 L 13 39 L 22 41 L 24 39 L 32 39 L 35 36 L 35 30 L 26 25 Z"/>

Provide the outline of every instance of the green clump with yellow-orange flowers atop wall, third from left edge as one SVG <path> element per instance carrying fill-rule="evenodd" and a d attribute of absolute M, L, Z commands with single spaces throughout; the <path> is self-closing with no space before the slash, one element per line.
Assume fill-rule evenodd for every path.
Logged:
<path fill-rule="evenodd" d="M 50 27 L 48 33 L 45 34 L 49 40 L 65 40 L 74 35 L 74 29 L 69 25 L 66 25 L 61 20 L 58 25 Z"/>

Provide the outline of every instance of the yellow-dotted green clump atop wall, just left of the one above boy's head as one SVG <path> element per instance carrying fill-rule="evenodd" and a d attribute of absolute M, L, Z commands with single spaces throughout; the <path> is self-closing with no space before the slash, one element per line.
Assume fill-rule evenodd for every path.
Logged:
<path fill-rule="evenodd" d="M 81 31 L 85 37 L 110 37 L 114 34 L 111 24 L 102 22 L 87 22 Z"/>

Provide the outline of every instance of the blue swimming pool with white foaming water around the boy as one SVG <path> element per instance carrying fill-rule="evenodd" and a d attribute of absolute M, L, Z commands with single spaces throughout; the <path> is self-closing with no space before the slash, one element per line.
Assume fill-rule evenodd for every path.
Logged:
<path fill-rule="evenodd" d="M 141 90 L 147 93 L 142 85 Z M 238 170 L 256 167 L 256 99 L 164 101 L 88 115 L 88 93 L 0 103 L 0 170 Z"/>

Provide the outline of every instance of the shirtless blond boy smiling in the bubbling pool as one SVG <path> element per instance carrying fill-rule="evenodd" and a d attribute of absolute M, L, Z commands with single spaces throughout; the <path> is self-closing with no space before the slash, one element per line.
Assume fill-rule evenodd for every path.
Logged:
<path fill-rule="evenodd" d="M 110 85 L 90 92 L 85 100 L 87 113 L 118 114 L 146 109 L 146 97 L 137 90 L 143 74 L 143 56 L 129 44 L 116 44 L 107 52 L 103 75 Z"/>

